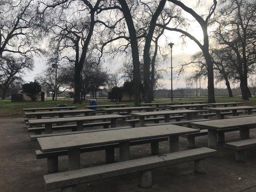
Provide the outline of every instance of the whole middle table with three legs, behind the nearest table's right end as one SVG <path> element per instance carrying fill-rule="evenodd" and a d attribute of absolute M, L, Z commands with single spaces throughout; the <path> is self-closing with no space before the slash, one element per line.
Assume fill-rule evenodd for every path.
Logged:
<path fill-rule="evenodd" d="M 144 126 L 145 124 L 145 117 L 147 116 L 164 116 L 165 122 L 170 122 L 170 115 L 176 114 L 186 114 L 187 120 L 191 120 L 192 114 L 198 113 L 198 110 L 191 110 L 191 109 L 184 109 L 184 110 L 164 110 L 164 111 L 148 111 L 148 112 L 139 112 L 139 113 L 130 113 L 135 117 L 139 117 L 140 126 Z"/>

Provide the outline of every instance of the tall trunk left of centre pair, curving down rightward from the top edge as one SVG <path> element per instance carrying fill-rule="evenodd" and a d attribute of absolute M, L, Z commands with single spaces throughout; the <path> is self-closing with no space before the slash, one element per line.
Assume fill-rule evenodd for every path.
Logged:
<path fill-rule="evenodd" d="M 136 36 L 136 30 L 133 23 L 133 18 L 130 12 L 130 9 L 125 0 L 118 0 L 122 7 L 122 13 L 124 15 L 129 35 L 130 35 L 130 43 L 132 48 L 132 57 L 133 57 L 133 82 L 134 82 L 134 106 L 138 106 L 141 103 L 141 79 L 140 79 L 140 61 L 139 61 L 139 50 L 138 50 L 138 42 Z"/>

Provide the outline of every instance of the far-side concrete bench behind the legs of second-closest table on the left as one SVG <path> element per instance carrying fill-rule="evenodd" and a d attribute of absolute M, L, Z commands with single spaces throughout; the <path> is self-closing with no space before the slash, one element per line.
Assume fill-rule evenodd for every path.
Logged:
<path fill-rule="evenodd" d="M 97 126 L 103 126 L 104 129 L 109 128 L 109 125 L 111 124 L 110 121 L 103 121 L 103 122 L 93 122 L 93 123 L 84 123 L 83 127 L 97 127 Z M 66 130 L 66 129 L 75 129 L 76 125 L 57 125 L 52 126 L 52 130 Z M 32 127 L 27 129 L 28 132 L 35 132 L 35 134 L 41 134 L 41 132 L 45 131 L 45 127 Z"/>

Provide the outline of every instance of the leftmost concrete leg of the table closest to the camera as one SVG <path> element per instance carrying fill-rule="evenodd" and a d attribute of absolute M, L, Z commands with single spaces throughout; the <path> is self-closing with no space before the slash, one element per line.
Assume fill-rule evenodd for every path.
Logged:
<path fill-rule="evenodd" d="M 69 170 L 80 169 L 80 149 L 68 150 L 68 167 Z"/>

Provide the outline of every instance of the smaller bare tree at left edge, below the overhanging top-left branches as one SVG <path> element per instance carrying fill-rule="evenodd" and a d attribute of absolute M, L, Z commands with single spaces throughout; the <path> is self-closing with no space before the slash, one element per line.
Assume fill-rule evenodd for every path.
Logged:
<path fill-rule="evenodd" d="M 31 71 L 34 67 L 34 60 L 28 57 L 14 57 L 7 54 L 0 58 L 0 83 L 2 86 L 2 99 L 5 99 L 6 92 L 10 85 L 21 78 L 26 70 Z"/>

